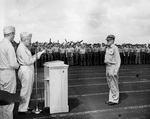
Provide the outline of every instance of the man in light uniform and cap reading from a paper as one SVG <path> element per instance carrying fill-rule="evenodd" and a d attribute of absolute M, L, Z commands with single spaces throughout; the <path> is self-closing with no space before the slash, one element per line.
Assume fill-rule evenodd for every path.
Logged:
<path fill-rule="evenodd" d="M 21 82 L 20 96 L 24 100 L 19 107 L 19 114 L 27 114 L 30 96 L 32 93 L 32 87 L 34 83 L 34 62 L 36 61 L 36 54 L 31 55 L 31 52 L 27 47 L 31 45 L 32 34 L 23 32 L 20 34 L 21 42 L 17 49 L 17 59 L 20 64 L 18 71 L 18 77 Z M 39 59 L 45 50 L 37 53 L 37 59 Z"/>

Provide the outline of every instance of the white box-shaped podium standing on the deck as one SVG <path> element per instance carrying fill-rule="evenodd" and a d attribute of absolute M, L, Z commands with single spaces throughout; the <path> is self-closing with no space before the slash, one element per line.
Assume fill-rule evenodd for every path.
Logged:
<path fill-rule="evenodd" d="M 44 64 L 44 99 L 50 114 L 69 111 L 68 66 L 63 61 Z"/>

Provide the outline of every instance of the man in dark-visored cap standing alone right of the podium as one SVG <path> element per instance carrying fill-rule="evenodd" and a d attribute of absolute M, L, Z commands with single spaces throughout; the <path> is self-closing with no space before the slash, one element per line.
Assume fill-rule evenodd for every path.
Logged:
<path fill-rule="evenodd" d="M 106 79 L 109 86 L 109 100 L 105 103 L 115 105 L 119 103 L 118 71 L 121 64 L 118 47 L 114 44 L 115 36 L 108 35 L 105 53 Z"/>

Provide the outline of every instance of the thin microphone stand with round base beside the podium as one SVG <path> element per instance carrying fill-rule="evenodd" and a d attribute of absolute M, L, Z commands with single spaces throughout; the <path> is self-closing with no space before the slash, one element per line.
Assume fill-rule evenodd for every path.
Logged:
<path fill-rule="evenodd" d="M 39 109 L 38 107 L 38 96 L 37 96 L 37 47 L 35 47 L 35 57 L 36 57 L 36 61 L 35 61 L 35 85 L 36 85 L 36 107 L 35 109 L 32 111 L 35 114 L 39 114 L 42 110 Z"/>

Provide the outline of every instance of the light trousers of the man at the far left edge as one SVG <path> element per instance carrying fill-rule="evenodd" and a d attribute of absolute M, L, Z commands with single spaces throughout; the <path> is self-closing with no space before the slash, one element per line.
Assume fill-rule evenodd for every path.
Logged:
<path fill-rule="evenodd" d="M 15 70 L 0 70 L 0 90 L 16 93 Z M 0 119 L 13 119 L 14 103 L 0 106 Z"/>

